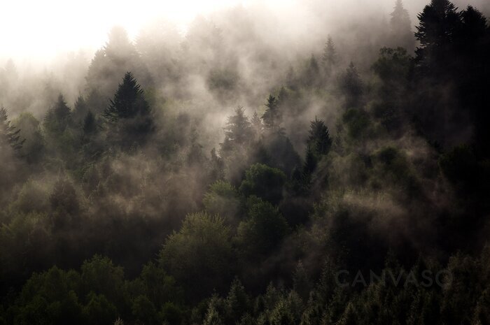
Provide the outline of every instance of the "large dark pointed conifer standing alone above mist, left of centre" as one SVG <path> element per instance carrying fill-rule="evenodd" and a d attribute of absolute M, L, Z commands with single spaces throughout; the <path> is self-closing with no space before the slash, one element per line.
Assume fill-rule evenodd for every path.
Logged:
<path fill-rule="evenodd" d="M 126 150 L 144 144 L 153 132 L 152 110 L 132 73 L 125 74 L 104 117 L 112 131 L 110 140 Z"/>

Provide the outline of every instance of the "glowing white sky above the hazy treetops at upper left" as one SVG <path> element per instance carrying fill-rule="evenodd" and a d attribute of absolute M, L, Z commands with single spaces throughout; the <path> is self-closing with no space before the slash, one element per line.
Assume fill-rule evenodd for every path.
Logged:
<path fill-rule="evenodd" d="M 130 36 L 135 36 L 148 20 L 166 17 L 179 27 L 185 27 L 197 14 L 206 15 L 247 2 L 0 0 L 0 57 L 40 59 L 79 48 L 99 48 L 115 24 L 125 27 Z"/>

